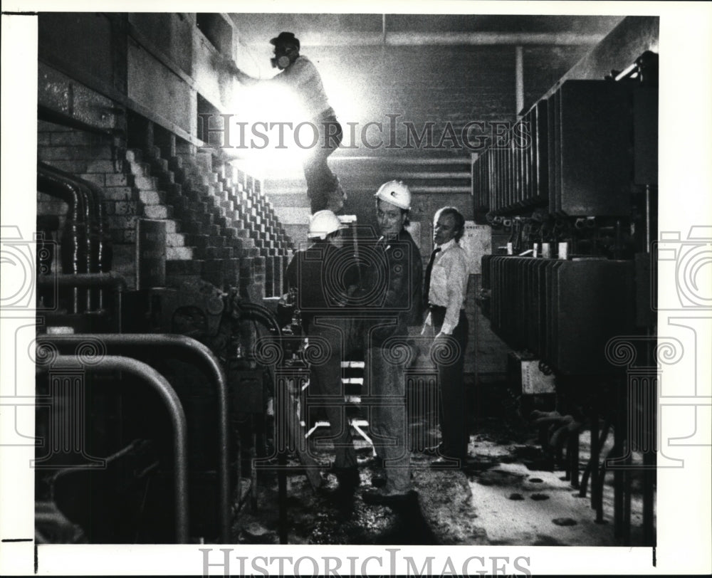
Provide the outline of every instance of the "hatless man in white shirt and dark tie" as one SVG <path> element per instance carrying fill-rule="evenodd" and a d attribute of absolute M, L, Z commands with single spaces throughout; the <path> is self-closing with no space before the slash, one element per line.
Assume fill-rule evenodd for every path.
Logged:
<path fill-rule="evenodd" d="M 433 347 L 442 348 L 438 373 L 440 382 L 440 456 L 432 466 L 464 466 L 469 441 L 463 381 L 468 322 L 465 315 L 467 259 L 458 241 L 465 219 L 454 206 L 436 212 L 433 219 L 435 248 L 425 271 L 424 301 L 428 315 L 423 333 L 435 336 Z"/>

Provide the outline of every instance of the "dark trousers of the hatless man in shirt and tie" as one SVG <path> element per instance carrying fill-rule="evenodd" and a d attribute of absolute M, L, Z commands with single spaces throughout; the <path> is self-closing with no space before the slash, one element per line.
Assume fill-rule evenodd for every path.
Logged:
<path fill-rule="evenodd" d="M 431 320 L 437 335 L 443 324 L 445 308 L 431 308 Z M 454 340 L 454 344 L 446 342 L 442 347 L 448 347 L 443 354 L 441 363 L 438 364 L 438 379 L 440 382 L 440 431 L 442 433 L 441 451 L 449 458 L 464 459 L 467 456 L 469 434 L 467 430 L 467 414 L 464 387 L 465 350 L 467 348 L 467 335 L 469 325 L 464 310 L 460 310 L 460 319 L 452 332 L 444 340 Z M 439 344 L 434 344 L 438 347 Z"/>

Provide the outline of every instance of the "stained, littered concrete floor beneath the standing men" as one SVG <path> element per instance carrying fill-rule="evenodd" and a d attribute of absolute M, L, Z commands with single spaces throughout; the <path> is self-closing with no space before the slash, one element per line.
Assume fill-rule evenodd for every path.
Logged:
<path fill-rule="evenodd" d="M 417 426 L 417 424 L 415 424 Z M 324 431 L 326 435 L 328 431 Z M 319 433 L 315 433 L 319 435 Z M 590 432 L 580 438 L 580 469 L 590 455 Z M 436 471 L 434 458 L 413 453 L 416 504 L 397 508 L 367 505 L 372 451 L 357 441 L 360 488 L 351 503 L 335 503 L 315 492 L 303 473 L 288 476 L 288 541 L 292 544 L 337 545 L 569 545 L 614 546 L 612 474 L 604 485 L 604 519 L 595 522 L 590 498 L 564 479 L 563 471 L 546 467 L 535 443 L 535 431 L 501 419 L 481 419 L 473 426 L 466 471 Z M 328 448 L 316 453 L 326 467 Z M 298 462 L 293 458 L 293 465 Z M 326 487 L 333 475 L 323 474 Z M 632 498 L 632 543 L 641 541 L 642 500 Z M 276 475 L 261 473 L 256 508 L 249 500 L 234 526 L 235 542 L 278 543 Z"/>

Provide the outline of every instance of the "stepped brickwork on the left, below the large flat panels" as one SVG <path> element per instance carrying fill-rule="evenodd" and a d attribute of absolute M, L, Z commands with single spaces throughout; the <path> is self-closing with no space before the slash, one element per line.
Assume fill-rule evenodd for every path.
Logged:
<path fill-rule="evenodd" d="M 152 141 L 152 124 L 140 124 L 130 123 L 130 141 Z M 291 243 L 261 182 L 167 132 L 159 140 L 163 147 L 127 149 L 122 138 L 40 122 L 38 159 L 103 191 L 112 269 L 130 289 L 137 286 L 137 223 L 151 219 L 166 226 L 168 285 L 204 279 L 219 288 L 239 286 L 255 302 L 281 294 Z M 58 218 L 56 240 L 67 210 L 63 201 L 38 192 L 38 216 Z M 54 268 L 61 272 L 58 261 Z"/>

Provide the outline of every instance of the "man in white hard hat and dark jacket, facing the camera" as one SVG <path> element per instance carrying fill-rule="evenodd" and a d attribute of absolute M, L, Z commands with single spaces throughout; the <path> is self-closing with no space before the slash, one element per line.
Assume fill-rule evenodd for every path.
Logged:
<path fill-rule="evenodd" d="M 366 503 L 390 505 L 414 499 L 410 479 L 405 404 L 404 361 L 394 353 L 409 347 L 407 339 L 422 320 L 420 251 L 406 230 L 412 195 L 406 184 L 389 181 L 375 194 L 376 221 L 381 237 L 377 258 L 365 272 L 365 285 L 382 295 L 379 320 L 365 331 L 369 428 L 382 458 L 385 483 L 363 493 Z M 364 399 L 362 397 L 362 403 Z M 375 485 L 375 483 L 374 483 Z"/>

